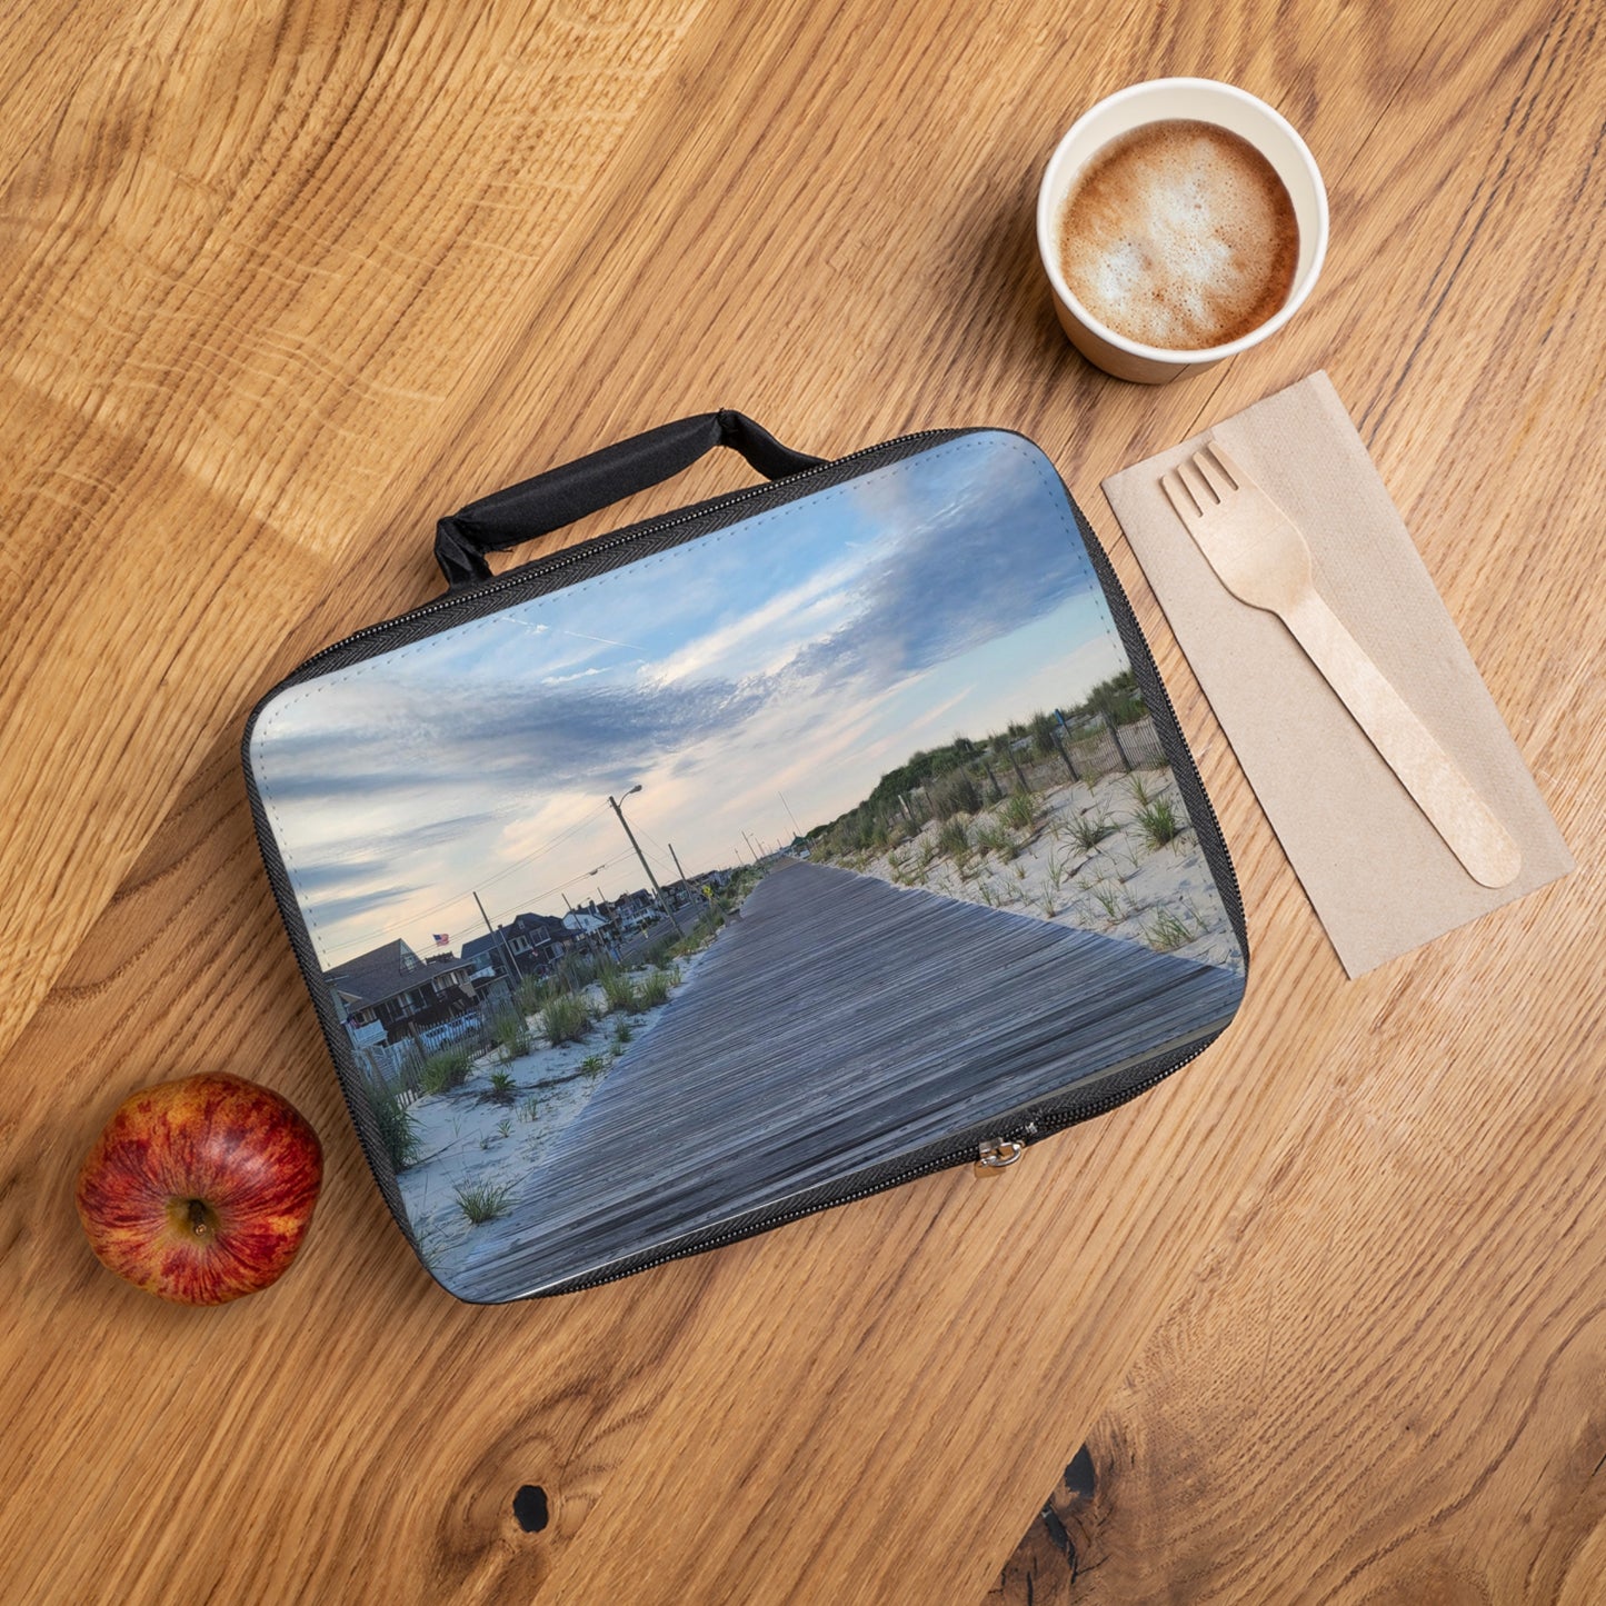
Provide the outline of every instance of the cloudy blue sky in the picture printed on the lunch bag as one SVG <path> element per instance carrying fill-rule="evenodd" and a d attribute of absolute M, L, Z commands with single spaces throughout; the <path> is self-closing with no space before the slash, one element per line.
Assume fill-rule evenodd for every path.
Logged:
<path fill-rule="evenodd" d="M 294 687 L 252 761 L 328 967 L 646 885 L 610 793 L 695 875 L 1124 665 L 1052 469 L 980 435 Z"/>

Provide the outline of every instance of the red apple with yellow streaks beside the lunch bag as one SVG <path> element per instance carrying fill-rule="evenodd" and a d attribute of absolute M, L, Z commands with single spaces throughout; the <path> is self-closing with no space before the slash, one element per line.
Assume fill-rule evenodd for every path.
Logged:
<path fill-rule="evenodd" d="M 321 1184 L 318 1134 L 287 1099 L 204 1073 L 117 1107 L 79 1171 L 79 1219 L 119 1277 L 223 1304 L 283 1275 Z"/>

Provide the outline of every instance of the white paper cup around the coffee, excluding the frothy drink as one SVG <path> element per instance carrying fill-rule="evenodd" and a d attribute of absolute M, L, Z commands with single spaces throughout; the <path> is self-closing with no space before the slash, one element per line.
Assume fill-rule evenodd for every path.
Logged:
<path fill-rule="evenodd" d="M 1248 140 L 1277 172 L 1293 202 L 1299 254 L 1282 307 L 1248 334 L 1198 350 L 1168 350 L 1134 340 L 1090 313 L 1071 292 L 1063 273 L 1065 204 L 1089 161 L 1111 140 L 1150 122 L 1211 122 Z M 1054 307 L 1071 344 L 1097 368 L 1118 379 L 1163 384 L 1235 357 L 1274 336 L 1304 305 L 1327 255 L 1327 186 L 1304 140 L 1266 101 L 1213 79 L 1152 79 L 1099 101 L 1070 128 L 1049 159 L 1037 190 L 1037 252 L 1054 289 Z"/>

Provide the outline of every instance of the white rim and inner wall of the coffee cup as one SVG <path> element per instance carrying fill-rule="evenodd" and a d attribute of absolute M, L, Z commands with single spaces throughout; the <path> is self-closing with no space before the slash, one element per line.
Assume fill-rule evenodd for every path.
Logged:
<path fill-rule="evenodd" d="M 1296 159 L 1310 178 L 1310 188 L 1317 201 L 1315 244 L 1312 247 L 1310 262 L 1301 283 L 1294 286 L 1288 300 L 1285 300 L 1283 305 L 1266 320 L 1266 323 L 1256 324 L 1248 334 L 1238 336 L 1237 340 L 1227 340 L 1222 345 L 1196 347 L 1192 350 L 1168 345 L 1147 345 L 1142 340 L 1134 340 L 1129 336 L 1121 334 L 1118 329 L 1111 329 L 1107 323 L 1103 323 L 1103 320 L 1089 312 L 1074 294 L 1071 294 L 1071 287 L 1065 283 L 1065 275 L 1060 271 L 1058 214 L 1062 210 L 1065 194 L 1057 193 L 1060 191 L 1057 180 L 1060 177 L 1060 167 L 1065 162 L 1065 153 L 1070 151 L 1087 124 L 1094 117 L 1103 116 L 1111 106 L 1119 106 L 1131 100 L 1147 98 L 1163 90 L 1177 88 L 1208 90 L 1211 93 L 1219 93 L 1227 100 L 1240 101 L 1245 106 L 1253 106 L 1288 140 Z M 1155 117 L 1153 120 L 1160 122 L 1163 119 Z M 1042 259 L 1044 271 L 1049 275 L 1049 283 L 1054 286 L 1055 296 L 1058 296 L 1082 323 L 1095 331 L 1102 340 L 1108 342 L 1118 352 L 1126 352 L 1131 357 L 1142 358 L 1150 363 L 1168 363 L 1179 368 L 1203 368 L 1208 363 L 1219 363 L 1224 357 L 1235 357 L 1238 352 L 1248 350 L 1251 345 L 1259 345 L 1261 340 L 1274 336 L 1304 305 L 1310 291 L 1315 287 L 1315 281 L 1322 271 L 1322 263 L 1327 260 L 1327 185 L 1323 185 L 1322 170 L 1317 167 L 1315 157 L 1301 138 L 1299 130 L 1294 128 L 1294 125 L 1275 106 L 1269 106 L 1257 95 L 1251 95 L 1248 90 L 1238 88 L 1237 84 L 1222 84 L 1219 79 L 1145 79 L 1142 84 L 1129 84 L 1124 90 L 1105 95 L 1103 100 L 1089 106 L 1087 111 L 1084 111 L 1081 117 L 1078 117 L 1076 122 L 1065 130 L 1060 141 L 1054 148 L 1054 154 L 1049 157 L 1047 167 L 1042 170 L 1042 181 L 1037 186 L 1037 255 Z"/>

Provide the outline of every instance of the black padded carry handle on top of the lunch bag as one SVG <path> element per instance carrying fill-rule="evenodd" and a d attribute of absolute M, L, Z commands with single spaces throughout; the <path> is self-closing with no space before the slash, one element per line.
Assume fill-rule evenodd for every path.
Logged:
<path fill-rule="evenodd" d="M 729 408 L 683 418 L 469 503 L 435 527 L 435 562 L 448 588 L 490 580 L 487 552 L 504 552 L 509 546 L 562 530 L 609 503 L 689 469 L 715 446 L 740 451 L 771 480 L 825 461 L 782 446 L 769 430 Z"/>

